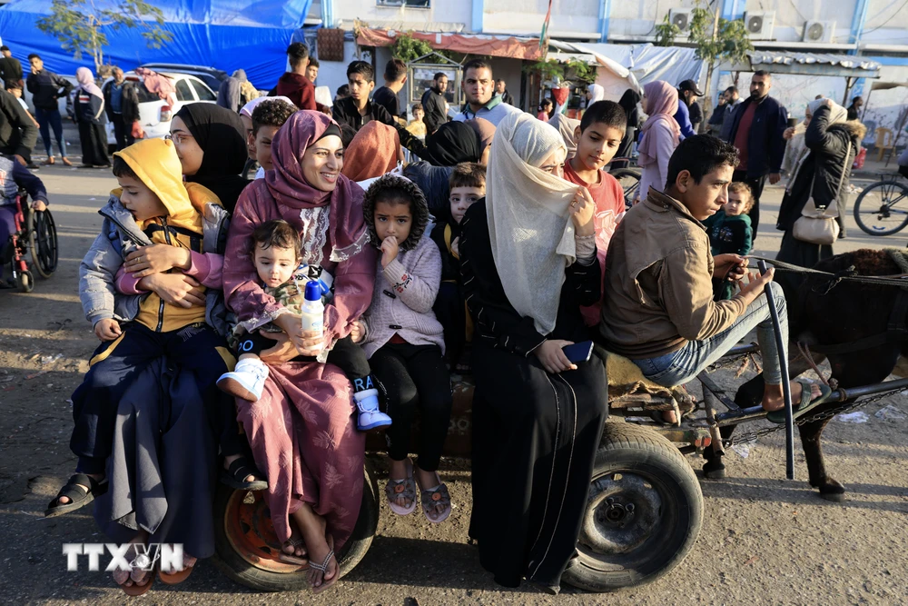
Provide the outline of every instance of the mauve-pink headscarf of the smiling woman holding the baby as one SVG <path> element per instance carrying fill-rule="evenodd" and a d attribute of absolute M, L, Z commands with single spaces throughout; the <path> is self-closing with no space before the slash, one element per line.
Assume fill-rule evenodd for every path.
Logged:
<path fill-rule="evenodd" d="M 265 173 L 265 184 L 281 206 L 281 218 L 300 232 L 303 231 L 301 210 L 331 205 L 331 260 L 340 261 L 359 252 L 369 239 L 362 214 L 362 188 L 340 174 L 334 191 L 322 192 L 306 181 L 301 165 L 306 149 L 331 124 L 337 127 L 336 122 L 321 112 L 301 110 L 292 114 L 271 141 L 274 170 Z"/>

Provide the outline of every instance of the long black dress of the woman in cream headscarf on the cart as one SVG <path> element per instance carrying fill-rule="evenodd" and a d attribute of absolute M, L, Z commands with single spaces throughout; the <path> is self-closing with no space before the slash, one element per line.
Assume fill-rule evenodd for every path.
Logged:
<path fill-rule="evenodd" d="M 475 323 L 469 536 L 499 584 L 527 579 L 558 588 L 587 507 L 607 381 L 596 357 L 576 371 L 548 374 L 531 352 L 547 338 L 587 340 L 580 306 L 599 298 L 599 263 L 568 268 L 555 330 L 541 335 L 508 303 L 485 200 L 470 206 L 461 226 L 461 279 Z"/>

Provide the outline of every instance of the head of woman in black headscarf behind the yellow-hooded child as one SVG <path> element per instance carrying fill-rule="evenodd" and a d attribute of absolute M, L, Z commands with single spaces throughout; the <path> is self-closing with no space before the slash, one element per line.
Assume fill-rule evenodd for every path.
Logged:
<path fill-rule="evenodd" d="M 183 105 L 171 122 L 186 181 L 212 190 L 231 213 L 249 184 L 240 176 L 247 156 L 243 133 L 239 114 L 215 104 Z"/>

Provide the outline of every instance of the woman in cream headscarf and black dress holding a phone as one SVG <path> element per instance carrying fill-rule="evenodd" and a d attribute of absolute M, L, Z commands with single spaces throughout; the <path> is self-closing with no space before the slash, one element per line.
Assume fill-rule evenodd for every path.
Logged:
<path fill-rule="evenodd" d="M 595 205 L 562 178 L 567 153 L 530 114 L 498 124 L 459 247 L 475 331 L 469 534 L 499 584 L 551 592 L 575 553 L 607 415 L 602 362 L 562 351 L 587 341 L 580 306 L 601 291 Z"/>

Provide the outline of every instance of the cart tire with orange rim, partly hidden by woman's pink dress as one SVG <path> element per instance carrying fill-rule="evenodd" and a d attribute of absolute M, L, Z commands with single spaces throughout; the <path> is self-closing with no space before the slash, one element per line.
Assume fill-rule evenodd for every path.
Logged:
<path fill-rule="evenodd" d="M 379 525 L 379 484 L 375 472 L 371 469 L 370 462 L 366 462 L 365 482 L 362 485 L 362 504 L 360 517 L 357 518 L 353 534 L 344 544 L 338 554 L 338 563 L 341 565 L 341 578 L 352 571 L 365 557 L 366 551 L 372 544 L 375 531 Z M 219 483 L 218 492 L 214 497 L 214 519 L 222 520 L 230 501 L 233 489 Z M 252 566 L 248 561 L 233 550 L 227 538 L 223 524 L 214 526 L 214 557 L 213 561 L 224 574 L 233 581 L 258 591 L 301 591 L 309 590 L 307 571 L 281 573 L 263 571 Z"/>

